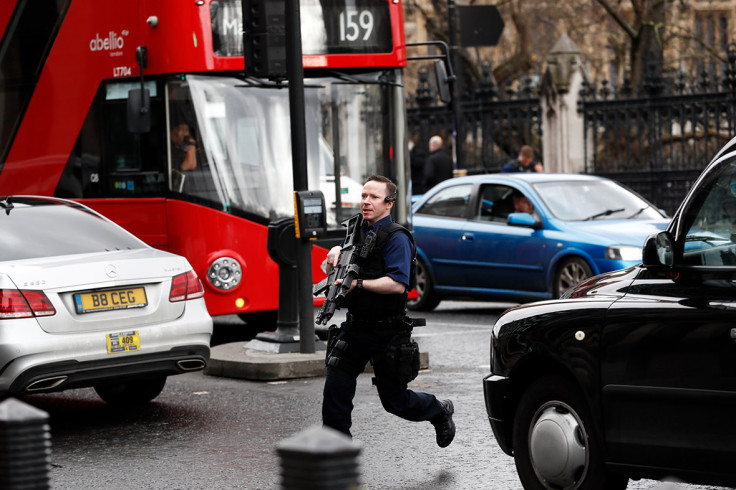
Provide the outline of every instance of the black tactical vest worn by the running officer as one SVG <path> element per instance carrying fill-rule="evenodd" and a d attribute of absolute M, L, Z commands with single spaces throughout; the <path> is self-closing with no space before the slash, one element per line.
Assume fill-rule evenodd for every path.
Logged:
<path fill-rule="evenodd" d="M 386 264 L 383 260 L 383 248 L 394 233 L 405 233 L 409 237 L 412 246 L 412 260 L 416 255 L 414 238 L 409 230 L 398 223 L 390 223 L 376 231 L 376 243 L 373 250 L 363 259 L 360 264 L 360 279 L 378 279 L 386 275 Z M 414 268 L 409 271 L 409 280 L 414 274 Z M 411 285 L 410 285 L 411 286 Z M 406 315 L 406 297 L 408 291 L 402 294 L 379 294 L 366 291 L 365 289 L 353 289 L 345 297 L 348 312 L 359 321 L 380 321 L 392 317 Z"/>

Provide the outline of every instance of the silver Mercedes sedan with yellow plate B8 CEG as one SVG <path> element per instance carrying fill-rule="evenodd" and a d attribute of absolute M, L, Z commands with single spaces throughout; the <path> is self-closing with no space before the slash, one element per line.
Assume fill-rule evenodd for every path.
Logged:
<path fill-rule="evenodd" d="M 145 403 L 203 369 L 212 318 L 184 257 L 79 203 L 0 197 L 0 397 L 94 387 Z"/>

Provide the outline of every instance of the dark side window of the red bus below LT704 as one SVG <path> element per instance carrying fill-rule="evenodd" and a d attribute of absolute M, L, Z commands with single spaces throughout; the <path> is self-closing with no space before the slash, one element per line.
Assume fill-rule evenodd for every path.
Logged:
<path fill-rule="evenodd" d="M 128 90 L 135 82 L 102 84 L 87 113 L 54 195 L 67 198 L 160 195 L 165 188 L 160 97 L 151 95 L 151 131 L 127 129 Z"/>

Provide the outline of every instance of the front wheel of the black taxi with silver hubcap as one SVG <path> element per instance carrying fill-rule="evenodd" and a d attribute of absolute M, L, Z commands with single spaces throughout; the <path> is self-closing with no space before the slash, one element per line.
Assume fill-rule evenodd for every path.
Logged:
<path fill-rule="evenodd" d="M 514 461 L 527 490 L 621 490 L 628 478 L 606 471 L 603 440 L 579 390 L 562 376 L 532 383 L 519 400 Z"/>

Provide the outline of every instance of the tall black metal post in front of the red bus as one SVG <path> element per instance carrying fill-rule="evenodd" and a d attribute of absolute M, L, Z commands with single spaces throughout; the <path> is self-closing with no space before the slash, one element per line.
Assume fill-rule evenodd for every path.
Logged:
<path fill-rule="evenodd" d="M 294 190 L 308 190 L 307 131 L 304 122 L 304 67 L 299 0 L 286 1 L 286 74 L 289 79 L 289 111 L 291 116 L 291 159 Z M 315 352 L 314 307 L 312 302 L 312 244 L 297 243 L 299 291 L 299 351 Z"/>

